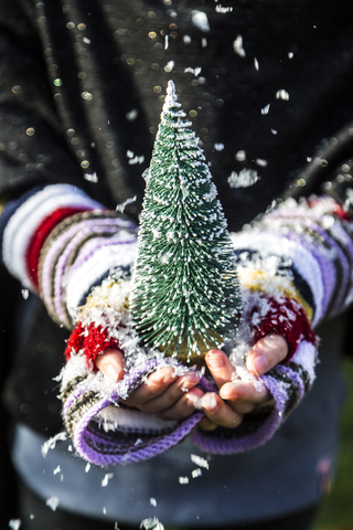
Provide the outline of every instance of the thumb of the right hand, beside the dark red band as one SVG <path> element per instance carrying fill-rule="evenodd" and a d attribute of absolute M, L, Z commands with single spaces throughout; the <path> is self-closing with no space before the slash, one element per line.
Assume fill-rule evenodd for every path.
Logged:
<path fill-rule="evenodd" d="M 246 367 L 259 378 L 286 359 L 288 344 L 281 335 L 271 333 L 258 340 L 246 359 Z"/>

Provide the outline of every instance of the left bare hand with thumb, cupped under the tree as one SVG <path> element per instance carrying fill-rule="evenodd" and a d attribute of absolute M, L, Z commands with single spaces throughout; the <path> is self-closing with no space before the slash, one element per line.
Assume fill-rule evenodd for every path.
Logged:
<path fill-rule="evenodd" d="M 96 367 L 114 382 L 120 381 L 125 373 L 124 354 L 120 350 L 106 351 L 97 357 Z M 202 390 L 194 388 L 199 381 L 199 372 L 190 370 L 176 377 L 172 368 L 164 367 L 149 375 L 122 403 L 163 420 L 183 420 L 194 412 L 195 400 L 203 395 Z"/>

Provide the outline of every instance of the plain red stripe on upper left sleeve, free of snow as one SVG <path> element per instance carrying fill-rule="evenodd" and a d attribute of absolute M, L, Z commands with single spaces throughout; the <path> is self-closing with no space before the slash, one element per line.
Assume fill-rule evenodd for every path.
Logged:
<path fill-rule="evenodd" d="M 36 227 L 32 234 L 29 245 L 25 251 L 24 259 L 28 275 L 38 287 L 38 262 L 42 246 L 51 233 L 51 231 L 64 219 L 73 215 L 74 213 L 83 212 L 86 208 L 60 208 L 53 213 L 43 219 L 41 224 Z"/>

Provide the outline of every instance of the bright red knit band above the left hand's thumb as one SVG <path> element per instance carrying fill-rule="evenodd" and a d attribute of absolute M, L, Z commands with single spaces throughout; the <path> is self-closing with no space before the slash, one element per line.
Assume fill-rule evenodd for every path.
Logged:
<path fill-rule="evenodd" d="M 65 357 L 68 360 L 73 352 L 78 353 L 83 350 L 86 359 L 94 362 L 99 353 L 116 349 L 119 349 L 119 342 L 117 339 L 108 338 L 106 328 L 94 324 L 85 328 L 78 322 L 67 341 Z"/>

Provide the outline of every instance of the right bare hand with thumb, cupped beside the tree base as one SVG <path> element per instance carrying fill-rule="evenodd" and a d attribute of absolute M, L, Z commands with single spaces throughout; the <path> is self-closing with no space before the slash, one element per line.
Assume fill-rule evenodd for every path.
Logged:
<path fill-rule="evenodd" d="M 246 359 L 246 367 L 256 377 L 260 377 L 286 359 L 288 346 L 280 335 L 268 335 L 253 347 Z M 218 425 L 237 427 L 244 414 L 259 403 L 270 401 L 267 389 L 256 390 L 253 383 L 232 382 L 234 368 L 227 356 L 221 350 L 211 350 L 205 356 L 206 364 L 220 389 L 216 393 L 206 393 L 201 399 L 205 417 L 199 423 L 203 431 L 213 431 Z"/>

